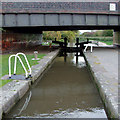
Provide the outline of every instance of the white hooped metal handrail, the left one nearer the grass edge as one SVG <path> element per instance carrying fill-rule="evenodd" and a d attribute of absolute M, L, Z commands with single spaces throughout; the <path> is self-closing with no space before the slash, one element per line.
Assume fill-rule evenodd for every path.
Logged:
<path fill-rule="evenodd" d="M 23 67 L 23 69 L 25 70 L 26 78 L 28 78 L 28 72 L 27 72 L 27 70 L 26 70 L 26 68 L 25 68 L 25 66 L 24 66 L 21 58 L 20 58 L 19 56 L 17 56 L 17 55 L 11 55 L 11 56 L 9 57 L 9 78 L 11 78 L 11 58 L 12 58 L 12 57 L 17 57 L 17 58 L 19 59 L 21 65 L 22 65 L 22 67 Z"/>

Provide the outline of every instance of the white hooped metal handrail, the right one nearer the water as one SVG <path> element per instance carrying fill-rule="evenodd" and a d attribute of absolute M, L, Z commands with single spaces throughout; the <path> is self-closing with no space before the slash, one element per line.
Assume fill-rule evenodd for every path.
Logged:
<path fill-rule="evenodd" d="M 19 56 L 19 55 L 23 55 L 23 56 L 24 56 L 24 58 L 25 58 L 25 60 L 26 60 L 26 63 L 27 63 L 27 65 L 28 65 L 28 68 L 29 68 L 29 70 L 30 70 L 29 76 L 31 76 L 32 70 L 31 70 L 30 64 L 29 64 L 29 62 L 28 62 L 28 59 L 27 59 L 27 57 L 26 57 L 26 55 L 25 55 L 24 53 L 17 53 L 17 54 L 16 54 L 15 63 L 14 63 L 14 75 L 16 74 L 17 56 Z"/>

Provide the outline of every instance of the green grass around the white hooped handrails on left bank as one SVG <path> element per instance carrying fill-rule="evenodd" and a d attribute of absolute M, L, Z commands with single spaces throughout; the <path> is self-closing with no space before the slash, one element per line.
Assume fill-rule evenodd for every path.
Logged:
<path fill-rule="evenodd" d="M 5 85 L 6 83 L 12 81 L 11 79 L 10 80 L 2 80 L 1 77 L 4 76 L 4 75 L 8 75 L 8 59 L 9 59 L 9 56 L 11 54 L 7 54 L 7 55 L 0 55 L 0 68 L 1 69 L 1 73 L 0 73 L 0 87 L 2 87 L 3 85 Z M 43 57 L 45 56 L 45 54 L 38 54 L 38 58 L 42 59 Z M 27 54 L 26 55 L 28 61 L 29 61 L 29 64 L 30 66 L 33 66 L 33 65 L 36 65 L 38 64 L 38 60 L 32 60 L 32 58 L 34 58 L 34 55 L 32 54 Z M 28 70 L 28 66 L 25 62 L 25 59 L 23 56 L 20 55 L 20 58 L 22 59 L 25 67 L 27 68 Z M 14 69 L 14 57 L 11 59 L 11 69 L 12 69 L 12 74 L 13 74 L 13 69 Z M 17 72 L 16 74 L 24 74 L 25 71 L 21 65 L 21 63 L 19 62 L 19 60 L 17 61 Z"/>

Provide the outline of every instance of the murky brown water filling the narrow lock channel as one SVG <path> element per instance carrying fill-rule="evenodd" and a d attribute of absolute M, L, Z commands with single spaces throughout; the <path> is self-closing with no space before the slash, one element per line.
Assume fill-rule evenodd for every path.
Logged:
<path fill-rule="evenodd" d="M 57 57 L 6 118 L 107 118 L 83 57 Z"/>

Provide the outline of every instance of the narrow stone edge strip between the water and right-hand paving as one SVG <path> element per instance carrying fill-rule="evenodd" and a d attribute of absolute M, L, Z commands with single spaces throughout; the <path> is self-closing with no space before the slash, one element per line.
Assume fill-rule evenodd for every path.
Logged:
<path fill-rule="evenodd" d="M 102 101 L 104 103 L 106 112 L 108 114 L 108 117 L 109 118 L 120 119 L 118 111 L 113 106 L 111 100 L 109 99 L 109 96 L 105 93 L 105 90 L 104 90 L 102 84 L 99 82 L 99 79 L 96 76 L 94 69 L 92 68 L 92 64 L 89 62 L 89 60 L 88 60 L 88 58 L 87 58 L 87 56 L 85 54 L 84 54 L 84 58 L 85 58 L 88 70 L 91 73 L 91 75 L 93 77 L 93 80 L 94 80 L 94 82 L 96 84 L 96 87 L 97 87 L 97 89 L 99 91 L 99 94 L 100 94 L 100 96 L 102 98 Z"/>

